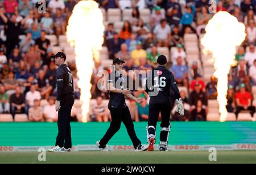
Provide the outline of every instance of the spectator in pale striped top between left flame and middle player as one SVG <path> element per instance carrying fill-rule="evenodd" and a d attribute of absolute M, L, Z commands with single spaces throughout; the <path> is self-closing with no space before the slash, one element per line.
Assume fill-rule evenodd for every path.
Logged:
<path fill-rule="evenodd" d="M 108 112 L 102 103 L 102 97 L 97 97 L 97 102 L 92 106 L 92 122 L 108 122 Z"/>

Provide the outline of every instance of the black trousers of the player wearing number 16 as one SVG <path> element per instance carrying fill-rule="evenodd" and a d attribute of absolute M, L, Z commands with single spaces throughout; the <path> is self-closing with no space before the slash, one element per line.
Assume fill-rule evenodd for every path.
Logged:
<path fill-rule="evenodd" d="M 148 126 L 154 126 L 156 128 L 156 123 L 158 122 L 159 114 L 161 113 L 162 122 L 160 124 L 161 128 L 168 128 L 170 123 L 171 115 L 171 105 L 167 104 L 154 104 L 150 105 L 148 113 Z M 153 128 L 148 128 L 149 134 L 155 134 Z M 160 141 L 166 141 L 168 132 L 160 132 Z"/>

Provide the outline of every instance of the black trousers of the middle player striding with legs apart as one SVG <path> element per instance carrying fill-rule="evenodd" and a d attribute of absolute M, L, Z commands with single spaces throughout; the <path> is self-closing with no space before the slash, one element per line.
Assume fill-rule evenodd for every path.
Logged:
<path fill-rule="evenodd" d="M 115 135 L 115 133 L 120 129 L 121 122 L 125 124 L 128 135 L 130 136 L 131 141 L 133 142 L 133 146 L 136 148 L 141 141 L 137 138 L 134 130 L 133 120 L 131 119 L 131 114 L 129 108 L 125 109 L 109 109 L 111 113 L 112 121 L 110 123 L 110 127 L 104 137 L 100 140 L 100 145 L 108 144 L 109 140 Z"/>

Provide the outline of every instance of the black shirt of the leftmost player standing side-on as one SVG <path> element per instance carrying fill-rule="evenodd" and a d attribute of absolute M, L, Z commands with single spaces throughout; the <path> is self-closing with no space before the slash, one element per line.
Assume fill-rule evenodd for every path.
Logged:
<path fill-rule="evenodd" d="M 61 64 L 56 70 L 57 101 L 63 95 L 74 94 L 73 77 L 66 64 Z"/>

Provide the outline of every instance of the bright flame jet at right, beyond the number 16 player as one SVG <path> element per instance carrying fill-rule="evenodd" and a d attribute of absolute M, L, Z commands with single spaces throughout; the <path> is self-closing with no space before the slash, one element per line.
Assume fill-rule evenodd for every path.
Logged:
<path fill-rule="evenodd" d="M 228 12 L 220 11 L 213 16 L 207 27 L 206 34 L 201 39 L 205 49 L 212 52 L 214 58 L 214 76 L 218 78 L 218 103 L 220 121 L 223 122 L 228 115 L 226 110 L 226 94 L 228 90 L 228 73 L 230 65 L 234 62 L 236 47 L 245 40 L 245 25 Z"/>

